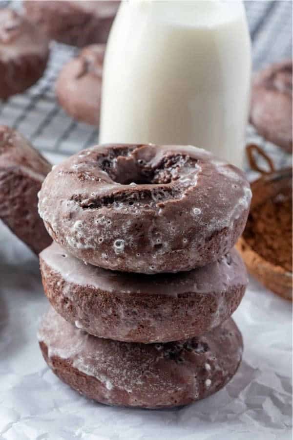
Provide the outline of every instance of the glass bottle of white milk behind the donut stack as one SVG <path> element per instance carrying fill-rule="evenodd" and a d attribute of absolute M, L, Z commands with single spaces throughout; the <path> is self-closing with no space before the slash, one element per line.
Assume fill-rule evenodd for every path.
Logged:
<path fill-rule="evenodd" d="M 105 55 L 100 142 L 195 145 L 241 166 L 250 81 L 241 1 L 123 1 Z"/>

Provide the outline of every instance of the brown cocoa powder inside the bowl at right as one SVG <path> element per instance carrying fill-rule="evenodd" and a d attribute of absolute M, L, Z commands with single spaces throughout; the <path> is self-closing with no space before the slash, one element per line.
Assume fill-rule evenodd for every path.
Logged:
<path fill-rule="evenodd" d="M 292 194 L 279 193 L 255 206 L 244 238 L 265 260 L 292 272 Z"/>

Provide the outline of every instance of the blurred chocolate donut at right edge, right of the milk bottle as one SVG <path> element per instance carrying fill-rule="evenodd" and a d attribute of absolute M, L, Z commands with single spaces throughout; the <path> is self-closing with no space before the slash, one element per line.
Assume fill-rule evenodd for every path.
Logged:
<path fill-rule="evenodd" d="M 250 118 L 259 134 L 292 153 L 292 60 L 256 74 Z"/>

